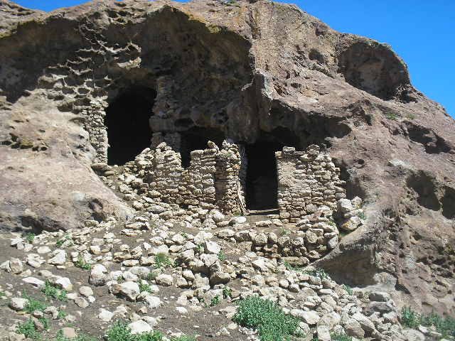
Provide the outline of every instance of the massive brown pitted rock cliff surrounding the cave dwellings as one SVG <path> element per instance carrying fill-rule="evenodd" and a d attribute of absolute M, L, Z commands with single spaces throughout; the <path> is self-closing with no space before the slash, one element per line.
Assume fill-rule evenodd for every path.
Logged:
<path fill-rule="evenodd" d="M 269 1 L 2 1 L 0 18 L 1 229 L 131 216 L 90 165 L 107 161 L 105 109 L 137 88 L 154 132 L 326 148 L 367 220 L 318 265 L 454 312 L 455 121 L 388 45 Z"/>

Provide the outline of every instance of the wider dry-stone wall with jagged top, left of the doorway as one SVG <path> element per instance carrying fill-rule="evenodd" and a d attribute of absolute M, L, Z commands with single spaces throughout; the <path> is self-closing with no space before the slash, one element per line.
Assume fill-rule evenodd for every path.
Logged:
<path fill-rule="evenodd" d="M 135 189 L 141 201 L 150 203 L 165 202 L 181 207 L 216 208 L 225 213 L 245 214 L 237 145 L 224 141 L 220 150 L 209 141 L 208 147 L 192 151 L 187 168 L 182 166 L 180 153 L 165 142 L 156 148 L 146 148 L 125 165 L 134 180 L 120 185 L 119 191 L 130 193 Z M 127 178 L 128 175 L 125 180 Z"/>

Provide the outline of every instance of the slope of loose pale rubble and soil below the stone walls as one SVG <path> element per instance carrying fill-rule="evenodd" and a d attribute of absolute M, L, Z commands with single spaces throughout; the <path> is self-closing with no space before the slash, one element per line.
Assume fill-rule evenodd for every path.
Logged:
<path fill-rule="evenodd" d="M 402 328 L 388 293 L 349 288 L 323 269 L 291 266 L 259 256 L 245 242 L 218 237 L 244 228 L 245 217 L 195 212 L 226 226 L 196 228 L 188 216 L 164 220 L 169 212 L 162 208 L 159 215 L 138 212 L 127 224 L 111 217 L 65 232 L 3 234 L 2 340 L 24 340 L 18 328 L 30 318 L 43 340 L 60 340 L 59 330 L 68 337 L 61 340 L 102 339 L 117 320 L 127 321 L 133 333 L 160 330 L 169 339 L 258 340 L 257 330 L 232 321 L 237 303 L 248 296 L 276 302 L 298 318 L 295 340 L 442 337 L 434 328 Z"/>

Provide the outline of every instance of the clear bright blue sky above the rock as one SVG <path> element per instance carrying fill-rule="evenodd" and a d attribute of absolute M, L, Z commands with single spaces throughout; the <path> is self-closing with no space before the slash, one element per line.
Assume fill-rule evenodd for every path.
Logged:
<path fill-rule="evenodd" d="M 31 9 L 52 11 L 86 1 L 16 2 Z M 296 0 L 294 3 L 337 31 L 392 45 L 407 63 L 414 87 L 444 105 L 455 117 L 455 0 Z"/>

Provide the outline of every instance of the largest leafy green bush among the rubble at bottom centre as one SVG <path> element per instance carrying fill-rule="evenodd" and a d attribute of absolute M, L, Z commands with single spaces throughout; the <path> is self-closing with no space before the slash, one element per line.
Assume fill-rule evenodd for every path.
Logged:
<path fill-rule="evenodd" d="M 299 319 L 284 313 L 272 301 L 252 296 L 240 301 L 232 320 L 243 327 L 257 329 L 262 341 L 287 340 L 299 327 Z"/>

